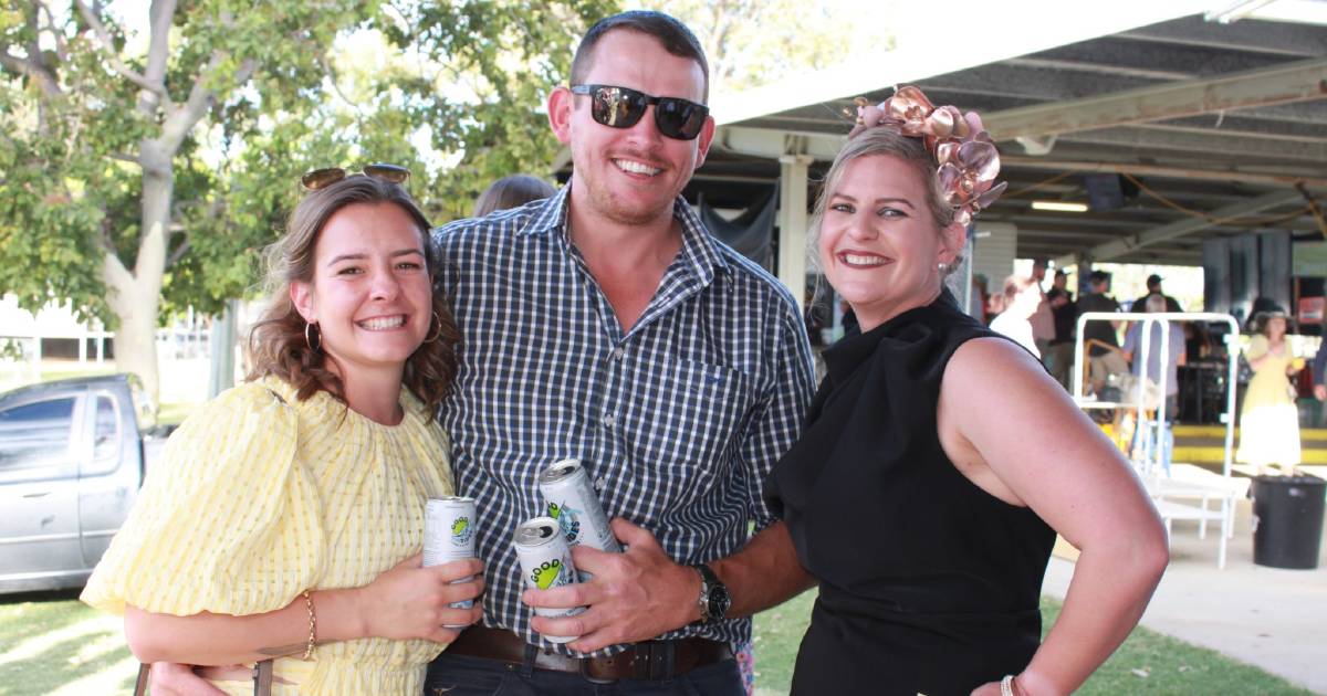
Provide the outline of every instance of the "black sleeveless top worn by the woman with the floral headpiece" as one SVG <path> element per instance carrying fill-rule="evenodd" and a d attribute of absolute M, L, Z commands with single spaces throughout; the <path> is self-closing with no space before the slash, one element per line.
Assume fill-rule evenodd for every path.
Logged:
<path fill-rule="evenodd" d="M 1036 651 L 1055 533 L 959 473 L 936 426 L 950 355 L 995 335 L 942 292 L 825 351 L 805 431 L 767 487 L 820 579 L 794 693 L 966 696 Z"/>

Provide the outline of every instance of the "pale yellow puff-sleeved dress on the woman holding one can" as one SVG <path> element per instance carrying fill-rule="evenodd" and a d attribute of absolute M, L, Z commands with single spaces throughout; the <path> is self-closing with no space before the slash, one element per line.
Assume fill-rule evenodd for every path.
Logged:
<path fill-rule="evenodd" d="M 280 395 L 283 400 L 277 399 Z M 442 428 L 406 390 L 398 426 L 276 378 L 235 387 L 171 436 L 82 601 L 174 615 L 261 614 L 305 589 L 360 587 L 423 542 L 423 508 L 453 492 Z M 427 640 L 328 643 L 275 663 L 275 695 L 421 693 Z M 232 695 L 252 681 L 215 681 Z"/>

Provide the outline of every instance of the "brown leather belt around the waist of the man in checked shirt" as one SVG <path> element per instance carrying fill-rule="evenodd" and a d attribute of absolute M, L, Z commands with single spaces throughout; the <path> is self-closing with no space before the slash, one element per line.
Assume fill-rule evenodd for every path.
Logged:
<path fill-rule="evenodd" d="M 447 647 L 447 654 L 571 672 L 598 683 L 620 679 L 664 681 L 698 667 L 733 659 L 733 648 L 727 643 L 705 638 L 645 640 L 610 658 L 569 658 L 531 646 L 511 631 L 484 626 L 471 626 L 462 631 L 460 638 Z"/>

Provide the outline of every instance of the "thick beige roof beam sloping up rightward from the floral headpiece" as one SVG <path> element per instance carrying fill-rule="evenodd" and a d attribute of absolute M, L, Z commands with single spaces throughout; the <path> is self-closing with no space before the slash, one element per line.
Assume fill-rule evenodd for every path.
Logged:
<path fill-rule="evenodd" d="M 991 138 L 1013 141 L 1322 98 L 1327 98 L 1327 58 L 1314 58 L 1210 80 L 1010 109 L 983 115 L 982 121 Z"/>

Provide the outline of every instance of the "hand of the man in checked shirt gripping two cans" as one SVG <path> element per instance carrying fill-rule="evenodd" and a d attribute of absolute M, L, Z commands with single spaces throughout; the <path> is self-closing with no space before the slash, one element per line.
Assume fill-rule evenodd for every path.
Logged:
<path fill-rule="evenodd" d="M 624 553 L 572 549 L 576 570 L 594 575 L 589 582 L 525 590 L 522 597 L 532 607 L 588 606 L 576 616 L 535 616 L 531 623 L 540 634 L 580 636 L 568 646 L 576 651 L 649 640 L 701 618 L 701 574 L 673 562 L 645 529 L 622 518 L 612 526 Z"/>

